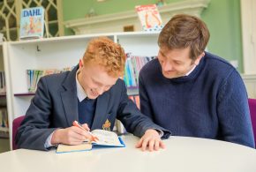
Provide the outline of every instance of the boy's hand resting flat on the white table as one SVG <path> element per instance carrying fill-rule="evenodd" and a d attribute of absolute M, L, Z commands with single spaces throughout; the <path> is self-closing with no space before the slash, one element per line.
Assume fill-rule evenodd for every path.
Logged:
<path fill-rule="evenodd" d="M 139 142 L 136 145 L 137 148 L 141 147 L 142 151 L 145 151 L 147 149 L 147 146 L 150 152 L 158 151 L 159 148 L 165 148 L 165 145 L 163 144 L 159 133 L 153 129 L 147 130 L 143 137 L 139 139 Z"/>

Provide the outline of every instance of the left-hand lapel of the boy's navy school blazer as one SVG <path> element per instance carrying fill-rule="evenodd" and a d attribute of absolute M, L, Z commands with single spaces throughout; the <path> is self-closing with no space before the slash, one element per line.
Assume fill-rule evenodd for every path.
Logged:
<path fill-rule="evenodd" d="M 79 119 L 78 112 L 78 96 L 76 87 L 76 72 L 78 66 L 76 66 L 67 79 L 64 80 L 64 92 L 61 93 L 61 99 L 63 102 L 65 116 L 68 122 L 68 126 L 72 126 L 74 120 Z"/>

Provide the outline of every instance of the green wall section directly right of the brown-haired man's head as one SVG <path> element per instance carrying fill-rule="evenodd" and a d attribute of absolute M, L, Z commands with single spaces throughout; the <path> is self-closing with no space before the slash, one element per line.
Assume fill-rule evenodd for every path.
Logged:
<path fill-rule="evenodd" d="M 211 0 L 202 19 L 210 30 L 208 50 L 228 60 L 237 60 L 243 71 L 240 0 Z"/>

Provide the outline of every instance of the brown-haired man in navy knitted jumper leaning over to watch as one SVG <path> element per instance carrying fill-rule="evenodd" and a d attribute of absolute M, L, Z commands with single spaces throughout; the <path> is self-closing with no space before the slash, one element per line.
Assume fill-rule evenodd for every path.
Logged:
<path fill-rule="evenodd" d="M 139 73 L 140 110 L 176 136 L 254 147 L 245 85 L 236 69 L 204 51 L 206 24 L 174 16 L 158 38 L 157 59 Z"/>

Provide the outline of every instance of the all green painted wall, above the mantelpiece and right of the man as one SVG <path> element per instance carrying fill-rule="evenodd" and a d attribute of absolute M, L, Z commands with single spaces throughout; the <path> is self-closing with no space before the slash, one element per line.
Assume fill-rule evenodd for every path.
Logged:
<path fill-rule="evenodd" d="M 166 0 L 167 4 L 180 0 Z M 64 21 L 85 18 L 94 9 L 97 15 L 132 11 L 135 5 L 154 4 L 156 0 L 63 0 Z M 75 10 L 70 10 L 75 9 Z M 240 0 L 211 0 L 208 8 L 202 12 L 202 19 L 207 23 L 211 38 L 208 51 L 222 56 L 229 61 L 237 61 L 238 71 L 243 72 Z M 65 34 L 73 34 L 65 29 Z"/>

